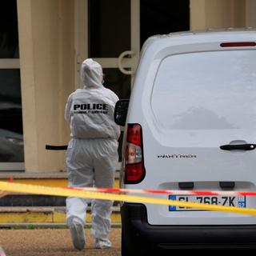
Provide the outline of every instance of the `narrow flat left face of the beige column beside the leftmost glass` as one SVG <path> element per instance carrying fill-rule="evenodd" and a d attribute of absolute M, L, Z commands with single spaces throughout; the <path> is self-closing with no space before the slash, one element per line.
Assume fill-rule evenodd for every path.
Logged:
<path fill-rule="evenodd" d="M 22 84 L 23 138 L 26 170 L 38 170 L 38 129 L 34 76 L 31 1 L 18 0 L 18 35 Z"/>

